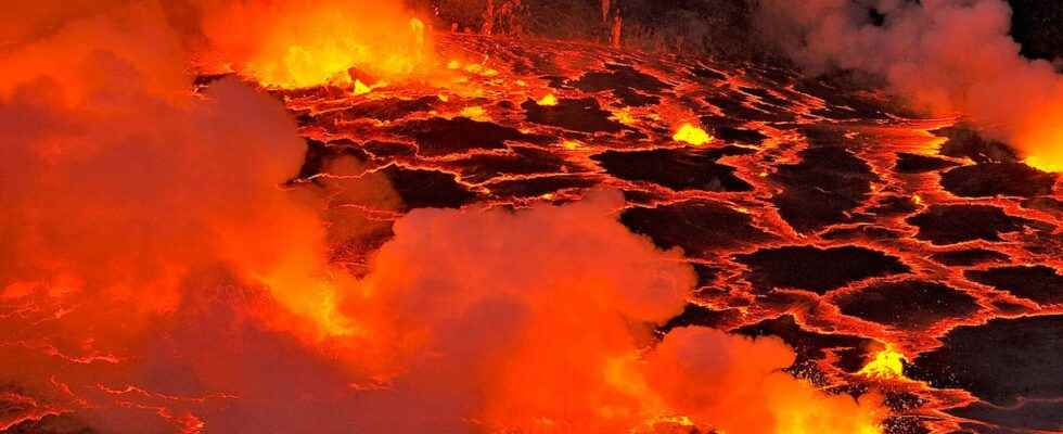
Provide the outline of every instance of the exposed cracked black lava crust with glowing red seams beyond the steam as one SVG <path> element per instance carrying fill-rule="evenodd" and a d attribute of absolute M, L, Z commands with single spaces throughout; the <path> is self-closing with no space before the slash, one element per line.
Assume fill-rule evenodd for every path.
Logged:
<path fill-rule="evenodd" d="M 355 272 L 412 208 L 620 190 L 623 224 L 682 248 L 699 275 L 664 330 L 780 336 L 794 375 L 884 391 L 891 433 L 1063 427 L 1056 175 L 958 119 L 795 71 L 478 36 L 437 46 L 453 61 L 433 82 L 273 91 L 310 143 L 303 180 L 385 177 L 401 199 L 333 200 L 385 222 L 375 244 L 336 248 Z M 712 138 L 679 140 L 696 128 Z M 866 368 L 891 357 L 901 372 Z"/>

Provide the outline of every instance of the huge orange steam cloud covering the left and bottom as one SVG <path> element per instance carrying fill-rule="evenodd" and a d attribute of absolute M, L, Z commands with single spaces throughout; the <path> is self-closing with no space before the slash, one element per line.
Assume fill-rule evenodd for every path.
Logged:
<path fill-rule="evenodd" d="M 40 7 L 2 52 L 0 431 L 878 432 L 872 400 L 781 372 L 781 341 L 661 341 L 693 271 L 618 193 L 414 210 L 356 279 L 329 248 L 373 224 L 282 187 L 306 152 L 282 105 L 191 92 L 197 13 Z M 345 187 L 396 208 L 373 174 Z"/>

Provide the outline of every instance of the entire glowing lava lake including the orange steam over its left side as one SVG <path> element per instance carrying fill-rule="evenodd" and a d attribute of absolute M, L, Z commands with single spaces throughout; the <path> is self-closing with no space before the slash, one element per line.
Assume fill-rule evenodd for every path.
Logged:
<path fill-rule="evenodd" d="M 44 3 L 0 433 L 1063 427 L 1059 176 L 964 119 L 395 2 Z"/>

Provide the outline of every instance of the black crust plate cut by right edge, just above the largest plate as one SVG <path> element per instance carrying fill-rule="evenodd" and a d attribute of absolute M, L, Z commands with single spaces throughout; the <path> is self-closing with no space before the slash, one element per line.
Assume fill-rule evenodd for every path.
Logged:
<path fill-rule="evenodd" d="M 1063 303 L 1063 276 L 1060 276 L 1054 268 L 1043 265 L 969 270 L 964 276 L 975 282 L 1042 305 Z"/>

